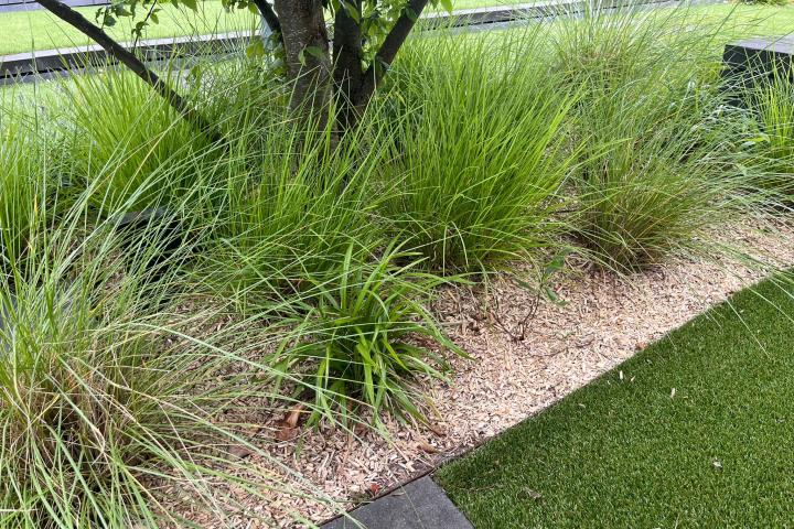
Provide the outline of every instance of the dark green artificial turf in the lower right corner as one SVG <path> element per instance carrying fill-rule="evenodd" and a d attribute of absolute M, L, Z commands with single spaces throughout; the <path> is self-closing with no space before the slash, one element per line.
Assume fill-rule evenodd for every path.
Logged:
<path fill-rule="evenodd" d="M 792 293 L 741 292 L 438 483 L 476 528 L 793 527 Z"/>

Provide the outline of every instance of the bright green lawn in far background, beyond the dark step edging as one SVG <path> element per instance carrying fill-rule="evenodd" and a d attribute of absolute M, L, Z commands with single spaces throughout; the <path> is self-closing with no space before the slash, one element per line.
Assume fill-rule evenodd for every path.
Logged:
<path fill-rule="evenodd" d="M 482 6 L 501 6 L 517 3 L 518 0 L 455 0 L 455 9 Z M 178 9 L 169 3 L 162 6 L 160 23 L 148 30 L 147 37 L 222 33 L 255 28 L 257 18 L 247 10 L 227 13 L 218 0 L 200 2 L 197 12 Z M 780 34 L 794 31 L 794 7 L 755 7 L 755 6 L 710 6 L 704 12 L 721 19 L 732 13 L 736 20 L 757 25 L 754 33 Z M 83 8 L 81 11 L 93 20 L 96 8 Z M 131 22 L 120 21 L 109 33 L 116 39 L 130 39 Z M 62 23 L 43 10 L 0 13 L 0 55 L 87 44 L 88 41 L 67 24 Z"/>

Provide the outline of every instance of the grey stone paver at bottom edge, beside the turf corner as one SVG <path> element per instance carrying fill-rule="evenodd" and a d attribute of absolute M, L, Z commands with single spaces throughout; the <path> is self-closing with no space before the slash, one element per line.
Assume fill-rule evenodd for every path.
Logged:
<path fill-rule="evenodd" d="M 321 526 L 322 529 L 474 529 L 430 476 Z"/>

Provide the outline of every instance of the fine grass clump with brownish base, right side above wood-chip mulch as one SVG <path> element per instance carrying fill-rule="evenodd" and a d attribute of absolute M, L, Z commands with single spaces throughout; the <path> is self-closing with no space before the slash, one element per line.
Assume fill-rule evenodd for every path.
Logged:
<path fill-rule="evenodd" d="M 711 129 L 708 115 L 693 114 L 687 99 L 696 97 L 684 94 L 659 112 L 657 101 L 616 91 L 580 117 L 593 132 L 583 140 L 573 225 L 601 266 L 629 271 L 656 263 L 738 212 L 731 142 Z M 723 119 L 719 108 L 710 111 Z"/>

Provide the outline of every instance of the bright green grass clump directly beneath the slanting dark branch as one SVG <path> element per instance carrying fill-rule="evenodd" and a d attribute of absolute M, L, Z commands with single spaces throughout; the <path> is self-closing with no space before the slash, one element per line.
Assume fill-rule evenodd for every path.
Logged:
<path fill-rule="evenodd" d="M 92 205 L 105 213 L 122 203 L 144 209 L 163 194 L 178 201 L 219 150 L 129 73 L 108 68 L 64 87 L 72 185 L 90 187 Z"/>

